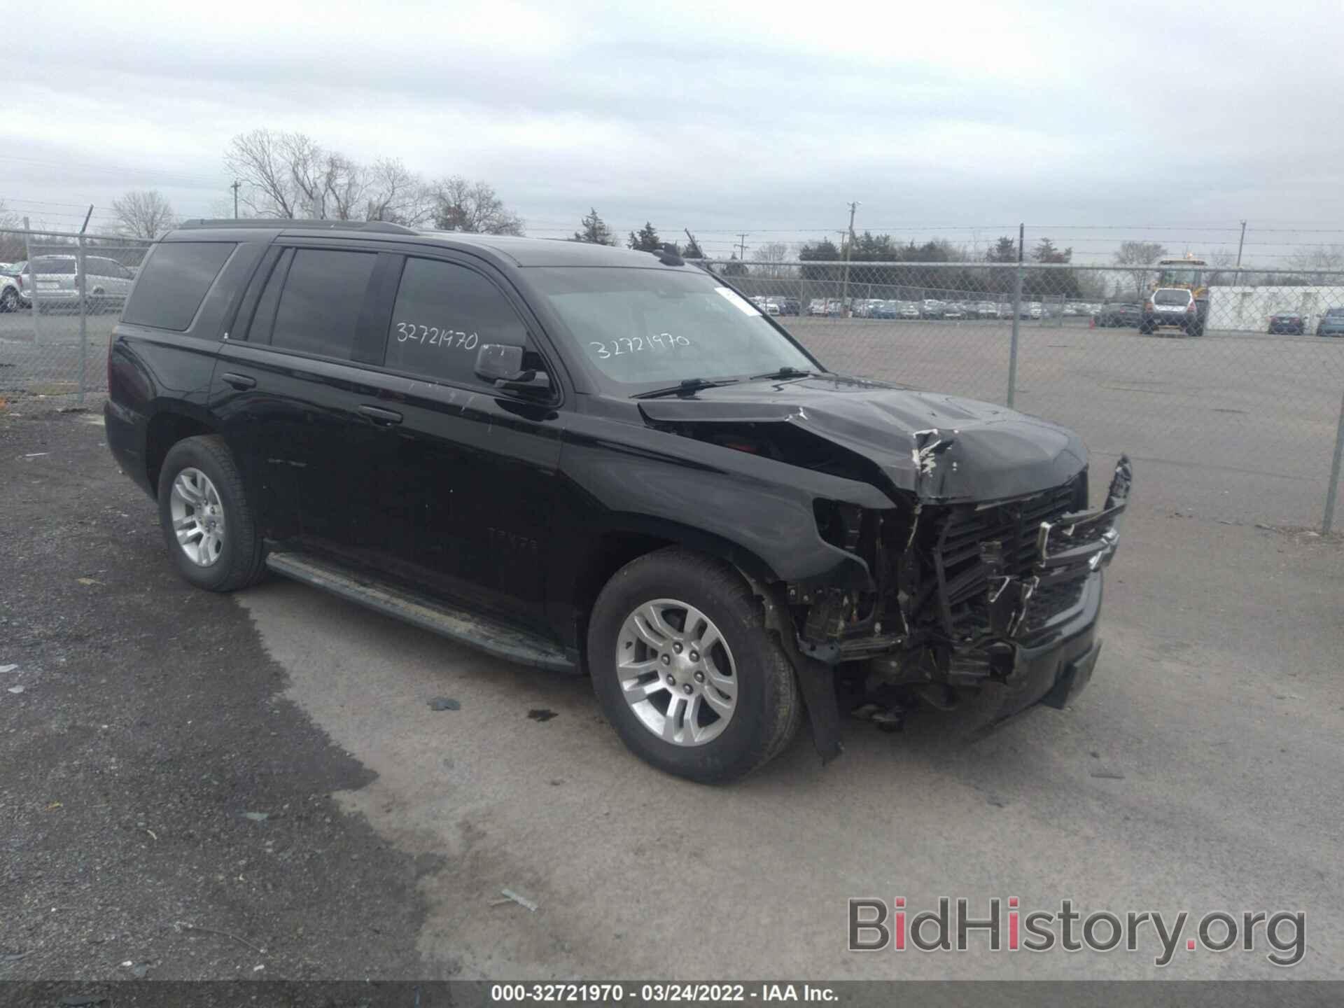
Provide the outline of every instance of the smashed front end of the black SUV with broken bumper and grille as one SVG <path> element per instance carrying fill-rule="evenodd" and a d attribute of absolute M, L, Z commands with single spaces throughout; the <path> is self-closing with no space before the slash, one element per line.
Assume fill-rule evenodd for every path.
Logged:
<path fill-rule="evenodd" d="M 914 461 L 931 476 L 953 439 L 918 431 Z M 806 657 L 835 667 L 849 707 L 899 726 L 923 702 L 973 702 L 991 724 L 1086 684 L 1099 642 L 1101 571 L 1118 542 L 1132 466 L 1117 464 L 1105 503 L 1087 509 L 1087 470 L 1005 500 L 874 512 L 823 501 L 823 538 L 872 575 L 853 586 L 788 585 Z"/>

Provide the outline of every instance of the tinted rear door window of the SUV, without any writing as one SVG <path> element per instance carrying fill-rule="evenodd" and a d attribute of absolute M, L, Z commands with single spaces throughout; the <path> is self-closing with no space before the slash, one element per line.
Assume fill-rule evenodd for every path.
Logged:
<path fill-rule="evenodd" d="M 353 359 L 359 312 L 375 262 L 376 253 L 298 249 L 280 294 L 271 345 Z M 258 305 L 258 312 L 263 306 Z"/>

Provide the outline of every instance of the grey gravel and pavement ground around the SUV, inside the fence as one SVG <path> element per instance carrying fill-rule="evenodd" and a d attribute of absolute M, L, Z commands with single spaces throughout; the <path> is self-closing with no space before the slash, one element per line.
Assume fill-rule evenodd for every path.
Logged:
<path fill-rule="evenodd" d="M 95 418 L 15 413 L 0 977 L 1285 976 L 1152 945 L 851 954 L 867 895 L 1302 910 L 1290 976 L 1344 976 L 1339 539 L 1173 509 L 1140 466 L 1070 711 L 969 749 L 934 716 L 848 723 L 829 767 L 801 738 L 707 789 L 628 755 L 583 680 L 298 585 L 190 590 Z"/>

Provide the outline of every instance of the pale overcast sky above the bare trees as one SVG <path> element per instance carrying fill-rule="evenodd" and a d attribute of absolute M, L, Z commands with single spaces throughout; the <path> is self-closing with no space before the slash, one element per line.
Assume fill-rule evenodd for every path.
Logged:
<path fill-rule="evenodd" d="M 1235 249 L 1243 218 L 1265 266 L 1344 242 L 1310 230 L 1344 228 L 1340 4 L 1200 7 L 19 4 L 0 199 L 48 226 L 130 188 L 211 215 L 228 138 L 269 126 L 485 179 L 542 237 L 595 206 L 750 251 L 853 199 L 860 230 L 985 245 L 1025 220 L 1087 258 Z"/>

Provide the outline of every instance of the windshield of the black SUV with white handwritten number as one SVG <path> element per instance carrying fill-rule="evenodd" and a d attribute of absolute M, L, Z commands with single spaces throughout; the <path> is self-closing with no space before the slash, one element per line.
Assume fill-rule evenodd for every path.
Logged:
<path fill-rule="evenodd" d="M 817 370 L 755 305 L 699 270 L 575 266 L 528 274 L 574 348 L 621 384 Z"/>

